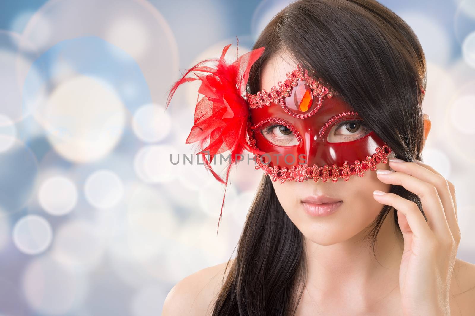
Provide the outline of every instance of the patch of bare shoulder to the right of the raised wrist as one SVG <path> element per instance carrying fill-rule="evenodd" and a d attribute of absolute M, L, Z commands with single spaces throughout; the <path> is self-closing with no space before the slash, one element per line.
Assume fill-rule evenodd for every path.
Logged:
<path fill-rule="evenodd" d="M 450 282 L 450 315 L 475 315 L 475 264 L 458 258 Z"/>

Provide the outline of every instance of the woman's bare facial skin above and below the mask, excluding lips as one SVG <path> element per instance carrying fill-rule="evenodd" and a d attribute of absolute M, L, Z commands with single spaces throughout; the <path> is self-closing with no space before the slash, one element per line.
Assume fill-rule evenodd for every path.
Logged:
<path fill-rule="evenodd" d="M 297 64 L 292 62 L 288 54 L 274 55 L 261 72 L 261 90 L 269 90 L 278 81 L 285 79 L 287 72 L 296 68 Z M 387 163 L 378 163 L 377 169 L 389 170 L 390 167 Z M 310 179 L 303 182 L 272 183 L 280 204 L 295 226 L 306 238 L 321 245 L 348 240 L 369 226 L 383 207 L 373 198 L 373 191 L 389 192 L 391 186 L 378 180 L 376 170 L 364 172 L 363 177 L 352 176 L 349 181 L 339 179 L 336 182 L 314 182 Z M 312 206 L 303 201 L 321 195 L 342 202 L 336 211 L 328 215 L 310 215 L 305 210 Z"/>

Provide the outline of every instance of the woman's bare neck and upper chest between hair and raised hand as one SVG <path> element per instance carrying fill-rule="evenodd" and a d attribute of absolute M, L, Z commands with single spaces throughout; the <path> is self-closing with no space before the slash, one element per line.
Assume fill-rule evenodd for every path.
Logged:
<path fill-rule="evenodd" d="M 314 293 L 314 299 L 327 301 L 329 297 L 358 297 L 365 306 L 397 288 L 404 243 L 396 234 L 393 215 L 391 211 L 380 227 L 374 254 L 371 240 L 363 238 L 371 227 L 333 245 L 305 239 L 307 295 Z"/>

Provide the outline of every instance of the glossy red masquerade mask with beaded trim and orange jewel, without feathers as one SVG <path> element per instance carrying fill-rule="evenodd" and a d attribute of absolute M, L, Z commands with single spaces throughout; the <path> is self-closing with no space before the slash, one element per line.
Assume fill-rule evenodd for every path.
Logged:
<path fill-rule="evenodd" d="M 271 90 L 246 95 L 257 166 L 273 181 L 336 182 L 387 163 L 391 150 L 321 79 L 301 67 Z"/>

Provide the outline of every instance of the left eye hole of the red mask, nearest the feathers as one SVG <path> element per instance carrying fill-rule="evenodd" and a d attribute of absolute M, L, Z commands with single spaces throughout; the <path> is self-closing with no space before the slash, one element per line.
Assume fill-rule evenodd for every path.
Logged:
<path fill-rule="evenodd" d="M 267 141 L 277 146 L 295 146 L 301 141 L 295 127 L 278 118 L 263 120 L 251 128 L 258 129 Z"/>

